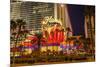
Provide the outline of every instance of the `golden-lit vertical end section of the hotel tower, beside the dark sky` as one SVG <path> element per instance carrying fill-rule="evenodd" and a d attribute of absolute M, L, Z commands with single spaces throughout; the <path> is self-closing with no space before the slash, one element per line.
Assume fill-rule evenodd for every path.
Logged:
<path fill-rule="evenodd" d="M 57 9 L 55 15 L 57 14 L 57 19 L 62 22 L 64 28 L 69 27 L 72 30 L 70 18 L 68 15 L 67 5 L 66 4 L 57 4 Z"/>

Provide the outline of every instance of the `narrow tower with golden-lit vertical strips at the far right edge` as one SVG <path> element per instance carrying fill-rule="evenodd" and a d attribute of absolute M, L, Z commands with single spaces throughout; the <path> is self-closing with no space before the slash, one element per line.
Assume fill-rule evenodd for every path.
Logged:
<path fill-rule="evenodd" d="M 85 37 L 90 38 L 94 44 L 95 41 L 95 7 L 85 7 Z"/>

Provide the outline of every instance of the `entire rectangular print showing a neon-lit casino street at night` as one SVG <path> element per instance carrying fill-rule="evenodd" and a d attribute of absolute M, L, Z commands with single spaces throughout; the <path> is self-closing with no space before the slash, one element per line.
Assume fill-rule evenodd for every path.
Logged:
<path fill-rule="evenodd" d="M 11 67 L 95 61 L 95 7 L 11 0 Z"/>

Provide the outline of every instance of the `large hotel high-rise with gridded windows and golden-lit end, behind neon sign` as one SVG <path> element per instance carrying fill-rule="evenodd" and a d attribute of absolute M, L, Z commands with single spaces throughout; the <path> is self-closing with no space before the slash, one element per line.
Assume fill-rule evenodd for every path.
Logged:
<path fill-rule="evenodd" d="M 29 30 L 41 30 L 41 21 L 46 16 L 61 20 L 64 28 L 69 27 L 72 30 L 65 4 L 28 1 L 11 3 L 11 19 L 24 19 Z"/>

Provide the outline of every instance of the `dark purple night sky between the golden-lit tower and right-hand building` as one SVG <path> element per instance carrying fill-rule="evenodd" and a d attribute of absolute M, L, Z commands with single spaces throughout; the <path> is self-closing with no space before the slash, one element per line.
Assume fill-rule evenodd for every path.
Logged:
<path fill-rule="evenodd" d="M 74 35 L 84 35 L 84 6 L 67 5 Z"/>

